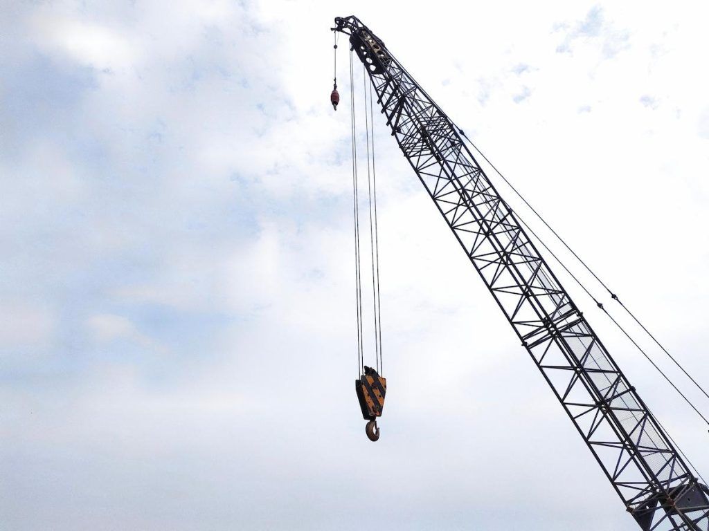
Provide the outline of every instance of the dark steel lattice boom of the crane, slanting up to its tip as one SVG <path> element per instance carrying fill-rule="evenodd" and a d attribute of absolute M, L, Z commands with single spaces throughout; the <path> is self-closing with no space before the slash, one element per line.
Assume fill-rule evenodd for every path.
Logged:
<path fill-rule="evenodd" d="M 564 290 L 462 131 L 358 18 L 337 17 L 332 29 L 349 35 L 403 156 L 627 511 L 643 531 L 709 531 L 709 489 Z M 364 404 L 362 410 L 374 418 Z"/>

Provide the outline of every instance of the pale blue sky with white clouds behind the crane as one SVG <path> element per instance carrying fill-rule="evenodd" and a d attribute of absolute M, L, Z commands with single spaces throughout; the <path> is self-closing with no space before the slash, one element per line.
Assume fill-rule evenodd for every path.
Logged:
<path fill-rule="evenodd" d="M 4 529 L 635 529 L 381 116 L 365 437 L 329 28 L 362 18 L 706 384 L 708 9 L 458 4 L 0 2 Z M 707 476 L 705 427 L 559 276 Z"/>

